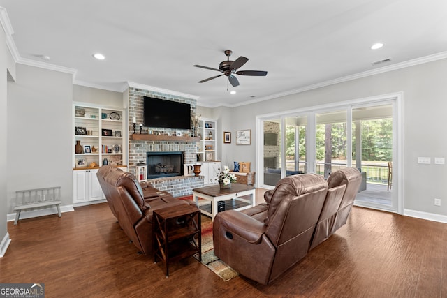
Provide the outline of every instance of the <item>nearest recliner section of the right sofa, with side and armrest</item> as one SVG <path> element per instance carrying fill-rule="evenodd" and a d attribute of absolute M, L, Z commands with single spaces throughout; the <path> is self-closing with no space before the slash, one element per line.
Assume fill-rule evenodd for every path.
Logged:
<path fill-rule="evenodd" d="M 267 284 L 307 255 L 328 192 L 316 174 L 285 177 L 265 203 L 214 218 L 214 254 L 243 276 Z"/>

